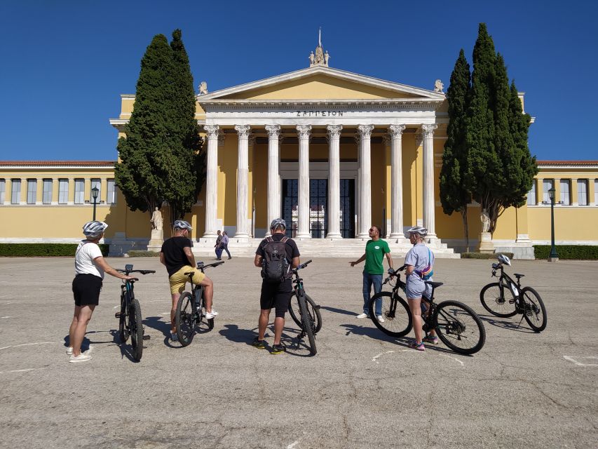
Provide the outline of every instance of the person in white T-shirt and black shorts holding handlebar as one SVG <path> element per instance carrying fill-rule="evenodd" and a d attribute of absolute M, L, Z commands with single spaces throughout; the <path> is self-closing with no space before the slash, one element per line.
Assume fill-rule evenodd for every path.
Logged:
<path fill-rule="evenodd" d="M 83 343 L 95 306 L 100 302 L 104 273 L 118 279 L 135 279 L 133 276 L 117 272 L 104 260 L 97 243 L 104 236 L 107 227 L 106 223 L 97 220 L 87 222 L 83 225 L 83 234 L 86 239 L 79 242 L 75 251 L 75 278 L 72 283 L 75 311 L 69 328 L 69 347 L 67 349 L 67 354 L 70 356 L 69 362 L 72 363 L 91 360 L 91 354 L 89 354 L 91 346 L 87 351 L 81 352 L 81 343 Z"/>

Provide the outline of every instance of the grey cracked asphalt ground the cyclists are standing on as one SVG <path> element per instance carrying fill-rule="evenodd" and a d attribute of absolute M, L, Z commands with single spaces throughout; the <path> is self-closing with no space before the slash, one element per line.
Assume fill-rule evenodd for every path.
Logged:
<path fill-rule="evenodd" d="M 93 361 L 67 363 L 73 260 L 0 258 L 0 447 L 597 447 L 598 262 L 513 262 L 508 272 L 524 273 L 548 309 L 538 334 L 520 316 L 482 308 L 491 261 L 437 260 L 436 299 L 465 302 L 484 319 L 484 348 L 461 356 L 442 343 L 408 349 L 355 319 L 361 267 L 348 261 L 318 258 L 304 270 L 324 323 L 312 357 L 288 315 L 287 353 L 250 345 L 261 282 L 250 259 L 208 271 L 215 328 L 182 348 L 167 339 L 158 260 L 110 258 L 158 271 L 135 284 L 151 337 L 142 361 L 118 344 L 119 281 L 106 276 L 83 344 Z"/>

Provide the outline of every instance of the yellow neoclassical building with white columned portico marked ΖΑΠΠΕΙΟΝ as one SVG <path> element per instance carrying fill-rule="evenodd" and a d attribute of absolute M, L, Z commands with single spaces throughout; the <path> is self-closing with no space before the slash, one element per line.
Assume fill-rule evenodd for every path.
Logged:
<path fill-rule="evenodd" d="M 196 253 L 211 253 L 217 229 L 224 229 L 231 249 L 250 255 L 269 222 L 282 216 L 306 254 L 358 255 L 372 224 L 393 253 L 403 254 L 405 229 L 417 224 L 428 227 L 437 257 L 458 257 L 461 217 L 444 215 L 438 190 L 448 123 L 442 83 L 428 90 L 328 67 L 321 46 L 310 58 L 305 69 L 221 91 L 201 84 L 196 119 L 205 133 L 207 177 L 187 217 Z M 119 137 L 134 102 L 135 95 L 121 95 L 121 113 L 110 120 Z M 598 244 L 598 161 L 539 166 L 527 204 L 499 218 L 495 248 L 531 258 L 533 243 L 550 241 L 552 186 L 563 202 L 555 210 L 557 242 Z M 0 162 L 0 242 L 79 239 L 93 213 L 93 187 L 100 189 L 97 219 L 109 224 L 111 253 L 146 248 L 149 214 L 128 210 L 113 161 Z M 470 205 L 468 218 L 475 246 L 478 205 Z M 42 235 L 39 220 L 46 223 Z M 574 235 L 564 232 L 571 222 L 578 224 Z"/>

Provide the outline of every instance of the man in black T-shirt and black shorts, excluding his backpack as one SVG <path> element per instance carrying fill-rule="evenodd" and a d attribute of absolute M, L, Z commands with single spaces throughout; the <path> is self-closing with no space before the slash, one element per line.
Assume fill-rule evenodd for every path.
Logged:
<path fill-rule="evenodd" d="M 281 241 L 285 238 L 285 231 L 287 224 L 282 218 L 272 220 L 270 231 L 273 241 Z M 269 243 L 264 239 L 259 243 L 255 251 L 254 264 L 261 268 L 264 260 L 266 244 Z M 292 239 L 287 239 L 285 242 L 286 259 L 290 268 L 299 267 L 299 248 L 297 243 Z M 261 282 L 261 297 L 259 298 L 260 313 L 259 313 L 259 333 L 253 340 L 253 346 L 258 349 L 264 349 L 266 342 L 264 336 L 266 335 L 266 327 L 268 326 L 270 311 L 272 307 L 276 309 L 276 318 L 274 319 L 274 344 L 272 345 L 271 354 L 281 354 L 285 351 L 285 347 L 280 343 L 280 337 L 283 335 L 283 328 L 285 327 L 285 312 L 289 309 L 291 296 L 293 292 L 291 278 L 288 277 L 285 281 L 280 283 L 270 283 L 264 279 Z"/>

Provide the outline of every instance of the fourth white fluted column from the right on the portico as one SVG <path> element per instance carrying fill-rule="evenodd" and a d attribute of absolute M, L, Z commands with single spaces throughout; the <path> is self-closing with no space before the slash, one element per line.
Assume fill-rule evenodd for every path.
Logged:
<path fill-rule="evenodd" d="M 328 234 L 341 239 L 341 159 L 339 145 L 342 125 L 328 125 Z"/>

